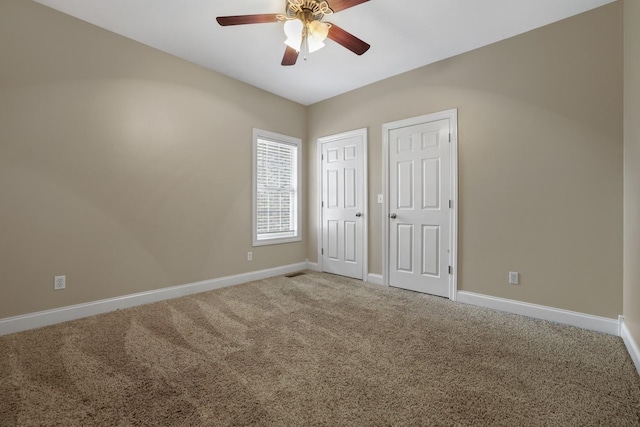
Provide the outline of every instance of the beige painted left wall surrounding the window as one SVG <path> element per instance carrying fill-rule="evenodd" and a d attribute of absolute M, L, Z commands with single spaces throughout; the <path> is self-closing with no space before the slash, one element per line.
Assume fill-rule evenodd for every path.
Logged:
<path fill-rule="evenodd" d="M 303 106 L 25 0 L 0 60 L 0 318 L 305 261 L 251 247 L 252 129 Z"/>

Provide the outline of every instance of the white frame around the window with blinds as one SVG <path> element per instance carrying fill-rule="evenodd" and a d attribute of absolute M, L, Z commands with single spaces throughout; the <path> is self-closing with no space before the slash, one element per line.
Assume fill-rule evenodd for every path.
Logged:
<path fill-rule="evenodd" d="M 293 235 L 288 233 L 273 233 L 272 237 L 262 237 L 258 234 L 258 141 L 264 140 L 276 144 L 283 144 L 293 146 L 296 149 L 295 153 L 295 165 L 293 165 L 293 172 L 295 173 L 293 202 L 295 204 L 293 208 L 293 223 L 294 231 Z M 277 245 L 282 243 L 299 242 L 302 240 L 302 221 L 301 221 L 301 207 L 302 207 L 302 140 L 300 138 L 294 138 L 287 135 L 281 135 L 275 132 L 269 132 L 262 129 L 253 129 L 253 166 L 252 166 L 252 240 L 253 246 L 266 246 Z M 280 234 L 280 235 L 279 235 Z M 282 234 L 287 234 L 282 236 Z"/>

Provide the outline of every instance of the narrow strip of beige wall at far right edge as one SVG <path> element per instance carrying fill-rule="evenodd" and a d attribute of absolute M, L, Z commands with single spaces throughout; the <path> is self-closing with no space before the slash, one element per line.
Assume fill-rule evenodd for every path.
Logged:
<path fill-rule="evenodd" d="M 624 322 L 640 343 L 640 2 L 624 2 Z"/>

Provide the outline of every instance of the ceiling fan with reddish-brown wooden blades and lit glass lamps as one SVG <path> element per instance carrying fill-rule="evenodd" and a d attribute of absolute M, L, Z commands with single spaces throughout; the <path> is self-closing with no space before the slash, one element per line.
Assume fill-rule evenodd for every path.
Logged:
<path fill-rule="evenodd" d="M 284 22 L 287 45 L 282 65 L 294 65 L 300 51 L 312 53 L 324 47 L 324 40 L 330 39 L 344 46 L 356 55 L 362 55 L 371 47 L 353 34 L 335 24 L 322 19 L 341 10 L 357 6 L 369 0 L 286 0 L 284 14 L 263 13 L 257 15 L 219 16 L 218 24 L 228 25 L 264 24 Z M 306 58 L 305 58 L 306 59 Z"/>

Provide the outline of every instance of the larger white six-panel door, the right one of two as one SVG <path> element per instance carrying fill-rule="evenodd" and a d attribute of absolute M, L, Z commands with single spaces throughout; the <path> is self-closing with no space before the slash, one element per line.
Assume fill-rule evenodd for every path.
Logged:
<path fill-rule="evenodd" d="M 442 114 L 385 125 L 389 285 L 451 297 L 454 120 Z"/>

